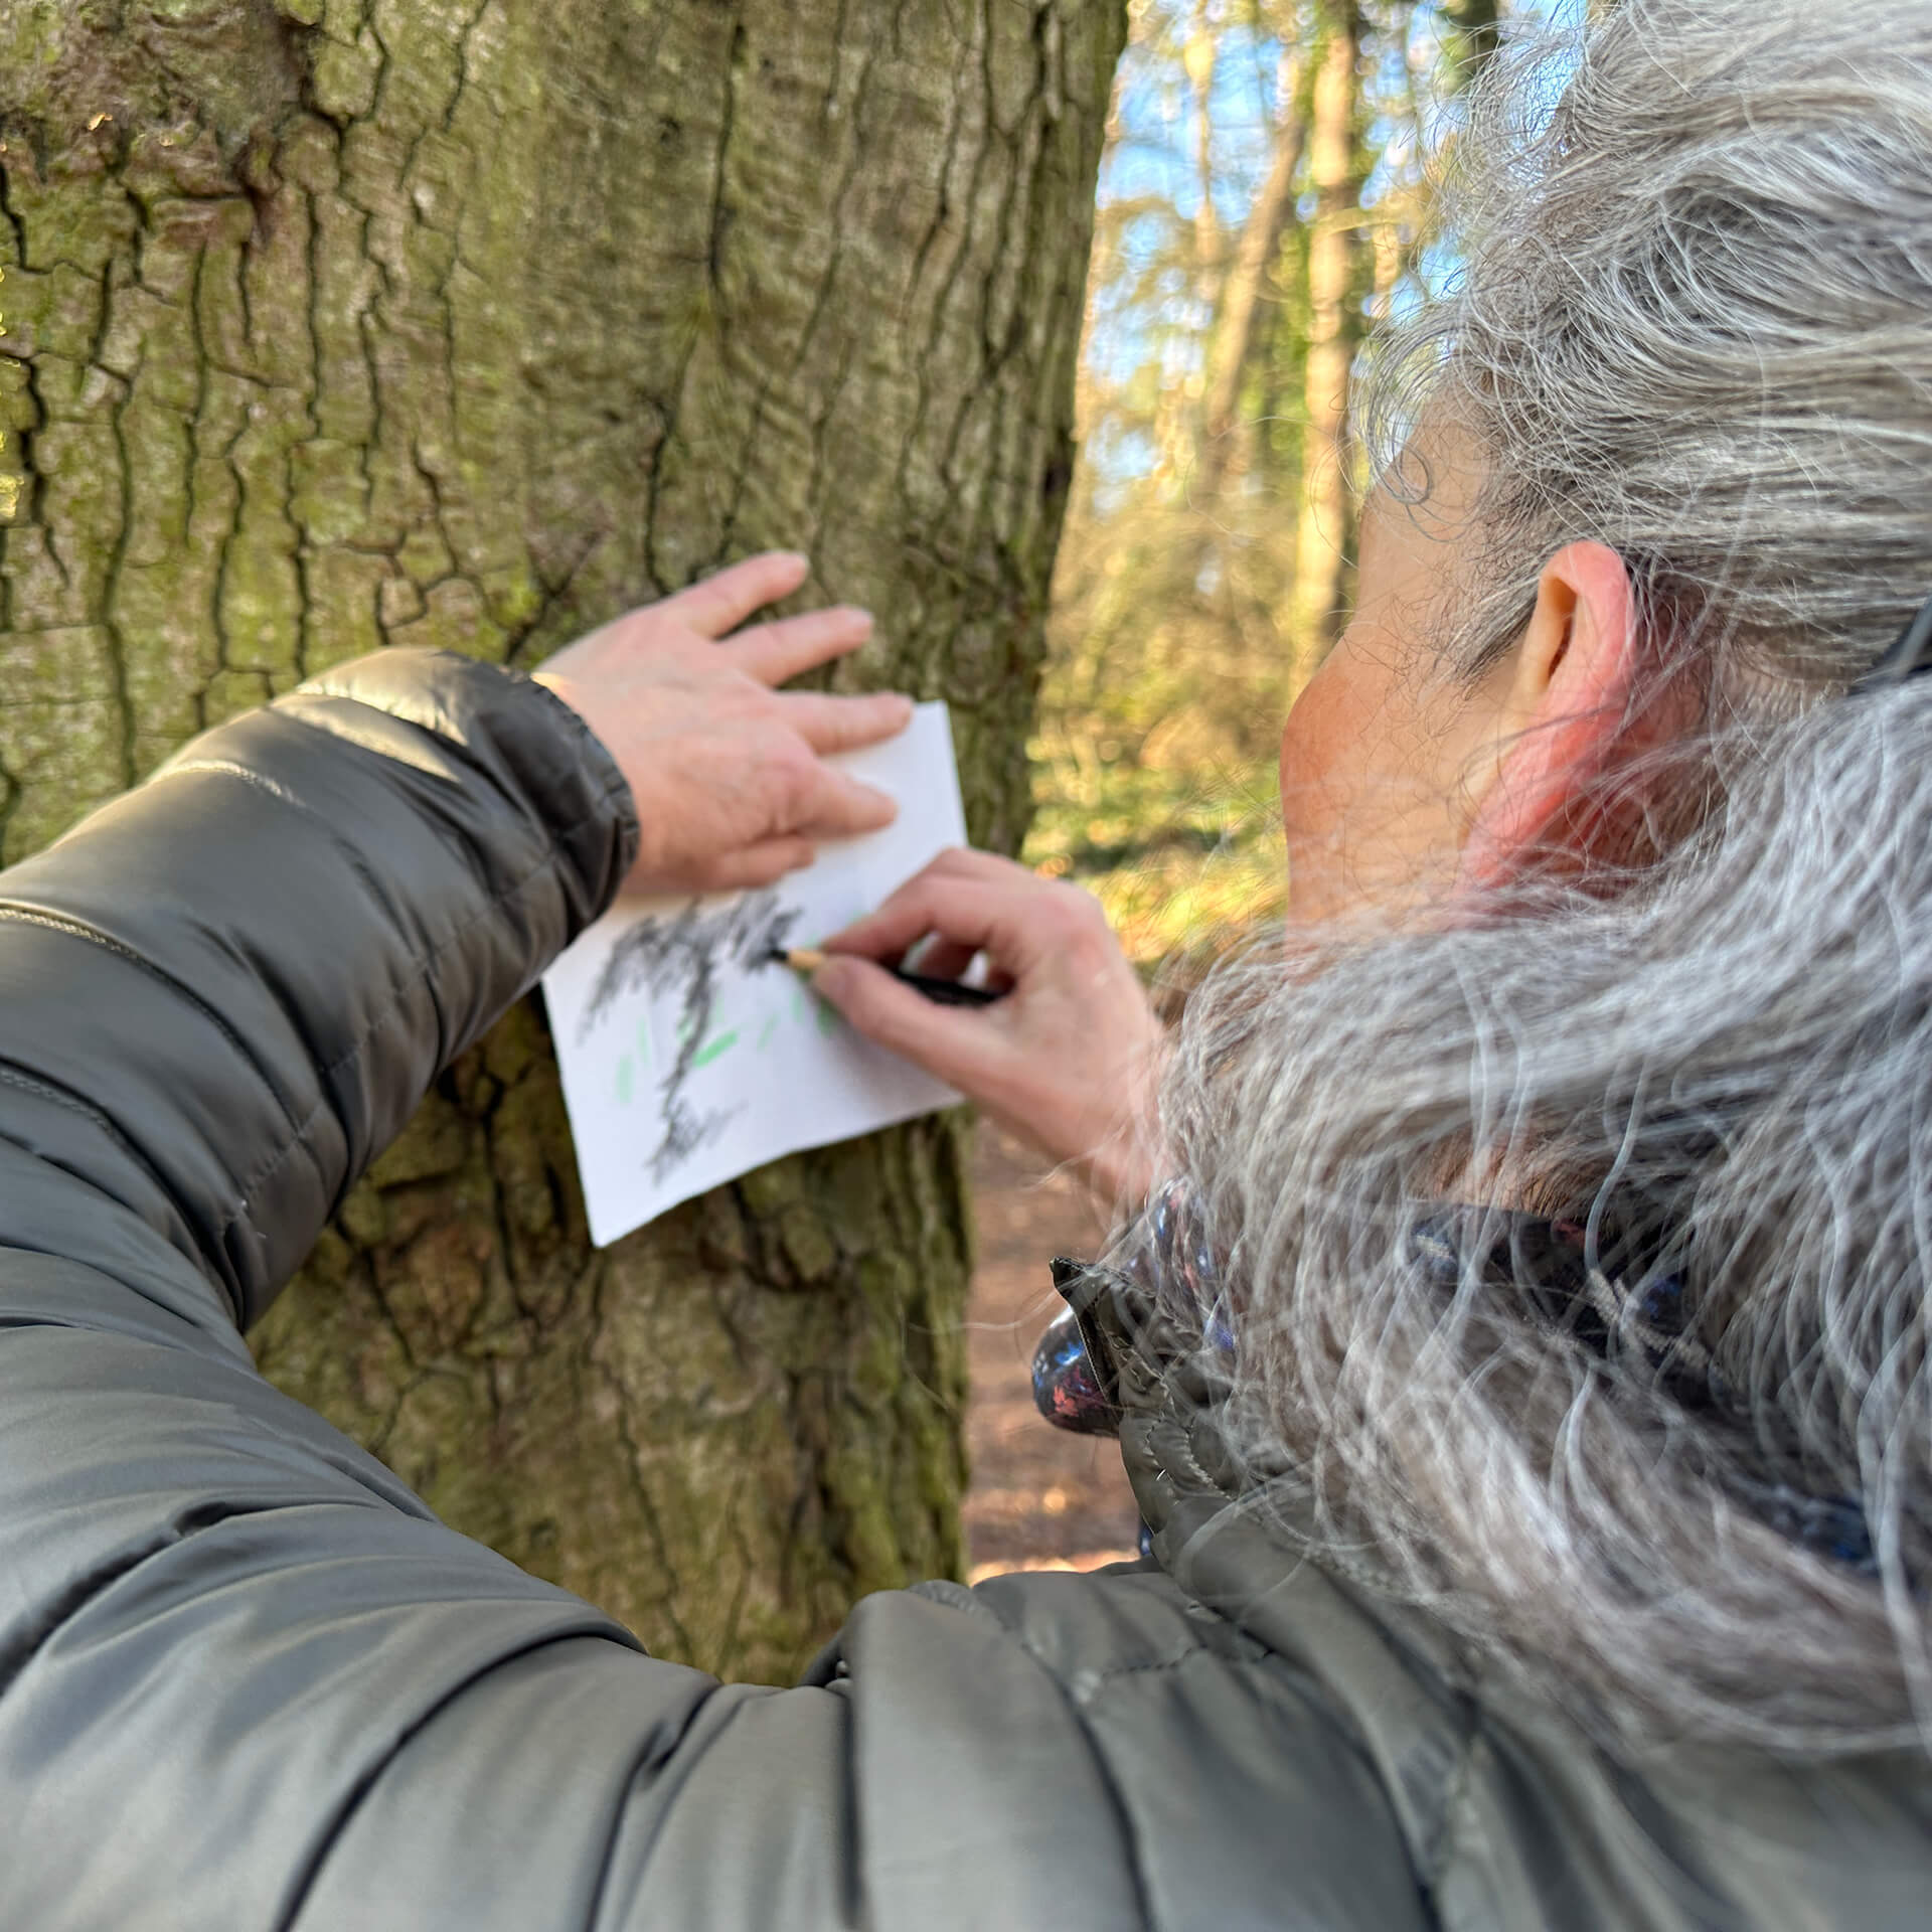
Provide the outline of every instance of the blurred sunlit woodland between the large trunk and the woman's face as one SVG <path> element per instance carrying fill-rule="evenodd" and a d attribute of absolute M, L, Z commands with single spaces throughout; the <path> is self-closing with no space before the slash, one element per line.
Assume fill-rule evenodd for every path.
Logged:
<path fill-rule="evenodd" d="M 1134 0 L 1028 856 L 1144 962 L 1281 904 L 1275 736 L 1352 595 L 1350 367 L 1449 272 L 1424 170 L 1507 12 Z"/>

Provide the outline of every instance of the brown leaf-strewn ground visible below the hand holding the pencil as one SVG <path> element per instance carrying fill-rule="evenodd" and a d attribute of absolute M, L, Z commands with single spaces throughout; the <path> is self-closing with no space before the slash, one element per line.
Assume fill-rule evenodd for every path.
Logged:
<path fill-rule="evenodd" d="M 1059 1310 L 1055 1254 L 1092 1254 L 1101 1227 L 1086 1194 L 991 1122 L 974 1159 L 980 1265 L 968 1308 L 972 1405 L 966 1549 L 972 1578 L 1016 1569 L 1094 1569 L 1134 1555 L 1138 1517 L 1121 1447 L 1068 1435 L 1034 1408 L 1030 1366 Z"/>

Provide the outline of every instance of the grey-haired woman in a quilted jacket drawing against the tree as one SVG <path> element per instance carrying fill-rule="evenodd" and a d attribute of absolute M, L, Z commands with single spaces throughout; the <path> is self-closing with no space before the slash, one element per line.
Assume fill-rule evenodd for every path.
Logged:
<path fill-rule="evenodd" d="M 1065 1285 L 1138 1567 L 719 1687 L 238 1341 L 626 873 L 885 810 L 819 753 L 898 703 L 769 690 L 856 618 L 703 641 L 794 566 L 549 692 L 338 672 L 8 875 L 0 1924 L 1926 1920 L 1932 17 L 1623 0 L 1461 151 L 1289 962 L 1159 1066 L 1088 904 L 956 856 L 821 978 L 1136 1209 Z"/>

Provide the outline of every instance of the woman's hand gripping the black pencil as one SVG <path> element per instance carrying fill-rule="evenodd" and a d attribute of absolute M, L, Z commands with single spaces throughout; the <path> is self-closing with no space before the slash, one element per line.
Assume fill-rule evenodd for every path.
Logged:
<path fill-rule="evenodd" d="M 943 1007 L 896 981 L 952 978 L 983 952 L 991 1007 Z M 877 912 L 825 941 L 815 991 L 867 1039 L 958 1088 L 1103 1198 L 1138 1204 L 1159 1177 L 1161 1022 L 1099 902 L 985 852 L 943 852 Z"/>

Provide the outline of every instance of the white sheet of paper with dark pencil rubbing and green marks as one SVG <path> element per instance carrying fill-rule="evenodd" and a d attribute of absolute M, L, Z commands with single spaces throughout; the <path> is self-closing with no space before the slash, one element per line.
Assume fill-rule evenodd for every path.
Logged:
<path fill-rule="evenodd" d="M 958 1099 L 854 1034 L 796 974 L 759 964 L 871 912 L 966 842 L 945 705 L 833 763 L 898 800 L 893 825 L 823 846 L 761 893 L 618 900 L 543 978 L 599 1248 L 782 1153 Z"/>

